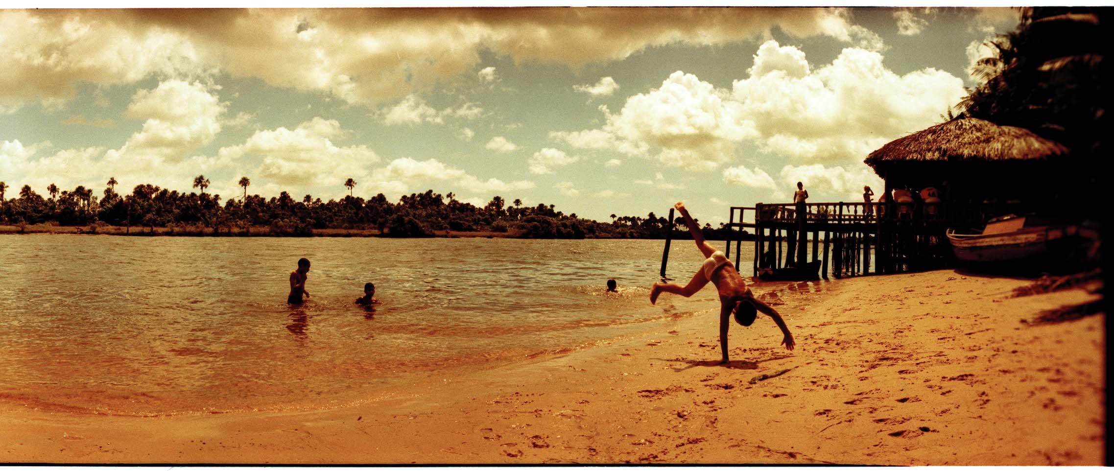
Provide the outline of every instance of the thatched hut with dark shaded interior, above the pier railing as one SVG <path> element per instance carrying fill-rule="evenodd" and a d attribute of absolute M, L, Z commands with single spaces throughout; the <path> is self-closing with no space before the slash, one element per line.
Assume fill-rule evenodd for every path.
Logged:
<path fill-rule="evenodd" d="M 931 186 L 955 200 L 1029 199 L 1064 189 L 1059 157 L 1067 154 L 1064 145 L 1024 128 L 957 118 L 895 139 L 864 161 L 887 189 Z"/>

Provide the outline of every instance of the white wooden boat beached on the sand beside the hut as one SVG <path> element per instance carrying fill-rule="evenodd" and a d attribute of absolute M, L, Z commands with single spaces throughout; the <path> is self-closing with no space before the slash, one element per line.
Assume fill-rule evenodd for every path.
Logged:
<path fill-rule="evenodd" d="M 1081 246 L 1077 225 L 1054 225 L 1033 216 L 1006 216 L 990 219 L 979 233 L 960 234 L 948 229 L 948 241 L 956 258 L 962 262 L 1015 262 L 1058 253 Z"/>

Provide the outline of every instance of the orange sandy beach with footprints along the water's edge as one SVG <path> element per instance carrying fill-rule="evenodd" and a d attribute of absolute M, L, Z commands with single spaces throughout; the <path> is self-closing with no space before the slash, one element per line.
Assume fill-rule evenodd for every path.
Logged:
<path fill-rule="evenodd" d="M 3 405 L 0 461 L 1103 464 L 1104 315 L 1035 323 L 1095 296 L 1012 297 L 1028 283 L 937 271 L 790 290 L 771 301 L 798 349 L 760 316 L 732 326 L 727 366 L 709 311 L 333 410 L 130 418 Z"/>

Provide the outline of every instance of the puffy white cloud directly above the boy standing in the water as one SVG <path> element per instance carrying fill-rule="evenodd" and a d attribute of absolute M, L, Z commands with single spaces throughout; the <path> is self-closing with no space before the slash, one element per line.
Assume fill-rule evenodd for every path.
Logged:
<path fill-rule="evenodd" d="M 333 144 L 332 139 L 344 135 L 336 120 L 314 117 L 293 129 L 256 131 L 244 144 L 223 147 L 217 155 L 227 159 L 262 156 L 258 175 L 283 187 L 340 185 L 348 178 L 359 181 L 379 156 L 365 145 Z"/>

